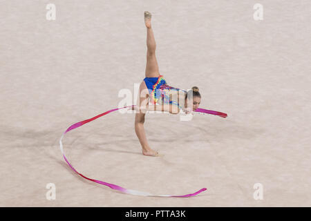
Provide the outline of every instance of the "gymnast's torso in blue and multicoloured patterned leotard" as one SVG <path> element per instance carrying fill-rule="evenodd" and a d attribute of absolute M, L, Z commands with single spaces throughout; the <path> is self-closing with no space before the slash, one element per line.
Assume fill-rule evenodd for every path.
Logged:
<path fill-rule="evenodd" d="M 173 104 L 178 106 L 178 108 L 182 108 L 183 105 L 181 106 L 181 104 L 185 102 L 186 90 L 169 86 L 163 75 L 159 77 L 145 77 L 144 82 L 149 90 L 151 103 Z"/>

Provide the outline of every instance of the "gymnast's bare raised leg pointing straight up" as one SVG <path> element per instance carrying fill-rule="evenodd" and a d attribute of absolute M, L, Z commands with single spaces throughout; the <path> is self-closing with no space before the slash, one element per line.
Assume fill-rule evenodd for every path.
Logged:
<path fill-rule="evenodd" d="M 151 28 L 151 13 L 144 12 L 144 23 L 147 28 L 147 65 L 146 77 L 158 77 L 159 66 L 156 59 L 156 40 L 154 39 L 153 30 Z"/>

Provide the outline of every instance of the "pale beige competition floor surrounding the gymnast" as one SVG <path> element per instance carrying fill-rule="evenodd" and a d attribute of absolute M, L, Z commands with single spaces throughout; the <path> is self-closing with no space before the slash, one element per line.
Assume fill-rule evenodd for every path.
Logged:
<path fill-rule="evenodd" d="M 311 2 L 260 1 L 263 21 L 255 3 L 1 1 L 0 206 L 311 206 Z M 144 78 L 144 10 L 160 73 L 228 117 L 147 115 L 149 144 L 165 154 L 155 158 L 140 154 L 134 115 L 111 113 L 70 131 L 65 152 L 88 177 L 156 194 L 208 189 L 195 198 L 113 191 L 59 151 L 68 126 L 117 107 Z"/>

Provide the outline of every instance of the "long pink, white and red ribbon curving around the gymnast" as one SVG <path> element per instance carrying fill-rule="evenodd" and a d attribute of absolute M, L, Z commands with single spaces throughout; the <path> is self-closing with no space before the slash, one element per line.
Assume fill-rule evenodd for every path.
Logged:
<path fill-rule="evenodd" d="M 135 106 L 135 105 L 132 105 L 132 106 Z M 124 106 L 123 108 L 128 108 L 128 107 L 130 107 L 130 106 Z M 109 114 L 109 113 L 111 113 L 113 111 L 117 111 L 119 109 L 122 109 L 122 108 L 111 109 L 110 111 L 106 111 L 106 112 L 104 112 L 104 113 L 102 113 L 100 115 L 97 115 L 95 117 L 92 117 L 90 119 L 86 119 L 86 120 L 84 120 L 82 122 L 77 122 L 77 123 L 69 126 L 68 129 L 63 133 L 61 139 L 59 140 L 59 147 L 60 147 L 60 149 L 62 151 L 64 160 L 67 162 L 67 164 L 70 166 L 70 168 L 73 169 L 73 171 L 75 171 L 75 173 L 77 173 L 78 175 L 84 177 L 84 179 L 86 179 L 86 180 L 90 180 L 92 182 L 96 182 L 97 184 L 102 184 L 102 185 L 105 185 L 105 186 L 109 186 L 111 189 L 115 189 L 117 191 L 121 191 L 122 193 L 129 193 L 131 195 L 144 195 L 144 196 L 164 197 L 164 198 L 189 198 L 191 196 L 198 195 L 202 191 L 206 191 L 207 190 L 206 188 L 202 188 L 199 191 L 196 191 L 195 193 L 190 193 L 190 194 L 186 194 L 186 195 L 155 195 L 155 194 L 152 194 L 152 193 L 146 193 L 146 192 L 142 192 L 142 191 L 135 191 L 135 190 L 132 190 L 132 189 L 125 189 L 122 186 L 117 186 L 115 184 L 110 184 L 108 182 L 103 182 L 101 180 L 94 180 L 94 179 L 88 178 L 85 175 L 83 175 L 82 173 L 79 173 L 78 171 L 76 171 L 75 168 L 67 160 L 66 155 L 64 153 L 64 148 L 63 148 L 63 144 L 62 144 L 62 139 L 63 139 L 64 135 L 66 133 L 68 133 L 69 131 L 72 131 L 73 129 L 78 128 L 79 126 L 82 126 L 82 125 L 84 125 L 84 124 L 86 124 L 88 122 L 92 122 L 93 120 L 95 120 L 95 119 L 97 119 L 99 117 L 107 115 L 107 114 Z M 196 110 L 196 112 L 209 113 L 211 115 L 219 115 L 220 117 L 227 117 L 227 114 L 225 114 L 225 113 L 220 113 L 220 112 L 217 112 L 217 111 L 209 111 L 209 110 L 202 109 L 202 108 L 198 108 Z"/>

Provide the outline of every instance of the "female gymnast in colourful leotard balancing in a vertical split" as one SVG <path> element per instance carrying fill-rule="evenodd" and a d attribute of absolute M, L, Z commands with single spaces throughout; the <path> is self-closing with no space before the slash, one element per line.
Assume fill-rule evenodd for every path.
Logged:
<path fill-rule="evenodd" d="M 156 41 L 151 28 L 150 12 L 144 12 L 144 23 L 147 27 L 147 66 L 145 78 L 140 84 L 138 105 L 133 107 L 132 110 L 138 111 L 135 114 L 135 133 L 142 145 L 142 154 L 158 157 L 160 154 L 157 151 L 153 151 L 149 146 L 146 134 L 144 133 L 144 115 L 146 111 L 165 111 L 171 114 L 177 114 L 182 109 L 182 111 L 188 114 L 191 111 L 196 111 L 201 101 L 201 95 L 196 86 L 187 92 L 186 90 L 173 88 L 167 84 L 163 75 L 159 73 L 158 62 L 156 60 Z M 177 95 L 177 100 L 183 100 L 184 102 L 181 103 L 184 106 L 180 106 L 178 101 L 171 99 L 170 95 L 172 97 L 173 95 Z M 159 103 L 160 105 L 156 105 Z M 187 105 L 191 103 L 193 104 L 193 108 Z"/>

